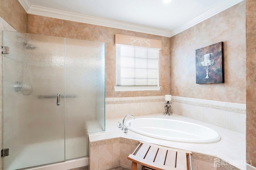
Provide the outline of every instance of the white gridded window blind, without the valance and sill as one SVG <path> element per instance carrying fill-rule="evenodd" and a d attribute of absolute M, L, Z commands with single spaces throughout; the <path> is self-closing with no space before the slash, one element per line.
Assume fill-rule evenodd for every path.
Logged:
<path fill-rule="evenodd" d="M 158 86 L 158 49 L 116 44 L 116 86 Z"/>

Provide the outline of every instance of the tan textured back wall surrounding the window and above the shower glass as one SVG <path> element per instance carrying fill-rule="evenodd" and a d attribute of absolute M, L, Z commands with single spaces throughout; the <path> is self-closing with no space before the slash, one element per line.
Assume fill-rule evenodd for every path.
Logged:
<path fill-rule="evenodd" d="M 28 33 L 104 42 L 106 60 L 106 98 L 163 96 L 170 92 L 170 38 L 168 37 L 36 16 L 32 14 L 28 14 Z M 115 92 L 113 90 L 116 79 L 116 48 L 114 42 L 114 35 L 116 33 L 162 41 L 162 50 L 159 51 L 159 85 L 162 86 L 160 91 Z"/>

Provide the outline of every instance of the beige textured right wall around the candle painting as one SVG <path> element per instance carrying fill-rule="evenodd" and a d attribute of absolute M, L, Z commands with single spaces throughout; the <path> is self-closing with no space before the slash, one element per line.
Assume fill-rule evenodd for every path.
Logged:
<path fill-rule="evenodd" d="M 174 96 L 246 103 L 245 2 L 170 38 Z M 195 51 L 224 42 L 224 83 L 196 84 Z"/>

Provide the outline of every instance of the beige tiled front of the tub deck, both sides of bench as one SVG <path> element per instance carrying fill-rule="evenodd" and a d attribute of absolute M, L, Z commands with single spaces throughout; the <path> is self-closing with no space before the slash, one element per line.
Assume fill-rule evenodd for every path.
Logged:
<path fill-rule="evenodd" d="M 114 145 L 116 145 L 117 143 L 120 145 L 120 147 L 114 147 Z M 118 164 L 118 162 L 113 161 L 112 168 L 114 168 L 115 166 L 122 165 L 122 167 L 130 169 L 131 161 L 127 159 L 127 156 L 134 151 L 134 149 L 138 146 L 138 144 L 139 144 L 139 141 L 137 140 L 118 137 L 118 138 L 90 142 L 90 147 L 92 148 L 99 147 L 100 149 L 100 147 L 109 148 L 110 145 L 113 145 L 112 149 L 113 149 L 113 152 L 115 150 L 116 155 L 118 155 L 118 151 L 119 151 L 118 158 L 120 159 L 120 162 L 119 162 L 120 164 Z M 105 151 L 99 152 L 99 155 L 104 157 L 106 160 L 108 160 L 109 158 L 110 159 L 112 158 L 112 155 L 110 153 L 112 153 L 112 150 L 109 150 L 108 153 L 105 153 Z M 96 156 L 96 160 L 97 160 L 97 157 L 98 156 Z M 93 164 L 91 164 L 90 162 L 90 170 L 98 170 L 98 169 L 106 170 L 107 168 L 111 167 L 110 165 L 111 161 L 108 164 L 102 164 L 103 160 L 99 160 L 98 165 L 96 165 L 97 163 L 95 164 L 95 161 L 94 161 L 95 157 L 93 155 L 90 156 L 90 159 L 94 162 Z M 104 160 L 103 162 L 106 162 L 106 160 Z M 197 152 L 192 152 L 192 162 L 193 162 L 192 164 L 193 164 L 194 170 L 206 170 L 206 169 L 217 170 L 220 168 L 222 168 L 223 170 L 240 170 L 239 168 L 232 166 L 231 164 L 222 160 L 221 158 L 218 158 L 217 156 L 201 154 Z M 138 165 L 138 167 L 139 167 L 138 169 L 141 168 L 140 165 Z"/>

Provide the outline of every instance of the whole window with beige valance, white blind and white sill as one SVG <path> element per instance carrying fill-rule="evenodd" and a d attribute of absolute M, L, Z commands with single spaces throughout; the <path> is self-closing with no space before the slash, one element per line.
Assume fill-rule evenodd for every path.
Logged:
<path fill-rule="evenodd" d="M 162 41 L 115 35 L 115 91 L 160 90 L 158 83 L 158 51 Z"/>

